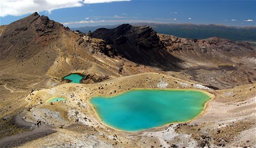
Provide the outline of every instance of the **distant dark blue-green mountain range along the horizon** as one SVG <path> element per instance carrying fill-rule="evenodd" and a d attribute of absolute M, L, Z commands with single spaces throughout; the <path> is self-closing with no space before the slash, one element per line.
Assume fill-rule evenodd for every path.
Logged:
<path fill-rule="evenodd" d="M 87 33 L 98 28 L 116 28 L 117 25 L 100 25 L 71 28 L 71 30 L 80 30 Z M 181 38 L 205 39 L 210 37 L 219 37 L 230 40 L 256 41 L 256 27 L 228 27 L 225 25 L 197 25 L 197 24 L 156 24 L 156 23 L 135 23 L 134 26 L 149 25 L 157 33 L 175 35 Z"/>

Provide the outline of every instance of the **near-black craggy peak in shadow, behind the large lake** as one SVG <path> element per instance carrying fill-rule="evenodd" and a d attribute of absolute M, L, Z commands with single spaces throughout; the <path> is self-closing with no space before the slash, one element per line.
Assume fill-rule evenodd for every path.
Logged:
<path fill-rule="evenodd" d="M 182 61 L 165 50 L 156 32 L 149 26 L 122 24 L 115 29 L 100 28 L 93 38 L 105 40 L 124 58 L 132 62 L 166 69 L 181 68 Z"/>

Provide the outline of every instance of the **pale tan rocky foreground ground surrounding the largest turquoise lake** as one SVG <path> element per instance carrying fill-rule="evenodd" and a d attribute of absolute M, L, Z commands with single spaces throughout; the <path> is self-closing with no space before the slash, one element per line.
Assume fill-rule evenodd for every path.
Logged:
<path fill-rule="evenodd" d="M 1 134 L 3 137 L 27 137 L 16 143 L 21 147 L 203 147 L 203 146 L 256 146 L 255 142 L 255 84 L 232 89 L 211 90 L 200 84 L 174 78 L 165 74 L 144 73 L 112 78 L 95 84 L 60 84 L 57 80 L 33 77 L 40 86 L 29 92 L 29 85 L 16 84 L 18 75 L 1 76 Z M 22 75 L 19 75 L 22 76 Z M 28 75 L 26 75 L 28 76 Z M 29 76 L 28 76 L 29 77 Z M 8 79 L 8 81 L 7 81 Z M 25 80 L 24 80 L 25 81 Z M 37 82 L 38 81 L 38 82 Z M 41 81 L 41 82 L 40 82 Z M 40 82 L 40 83 L 39 83 Z M 28 84 L 28 83 L 27 83 Z M 31 81 L 29 82 L 31 84 Z M 165 84 L 165 85 L 161 85 Z M 191 85 L 192 84 L 192 85 Z M 56 86 L 55 86 L 56 85 Z M 27 88 L 21 88 L 25 87 Z M 198 118 L 187 123 L 169 124 L 138 132 L 117 131 L 99 120 L 88 103 L 93 95 L 116 95 L 133 88 L 199 89 L 209 91 L 215 98 Z M 25 91 L 26 90 L 26 91 Z M 31 90 L 31 89 L 30 89 Z M 29 94 L 29 95 L 27 95 Z M 19 96 L 19 98 L 14 97 Z M 68 101 L 45 103 L 52 96 L 62 96 Z M 8 98 L 8 99 L 5 99 Z M 17 98 L 12 100 L 9 98 Z M 17 104 L 17 101 L 19 104 Z M 8 105 L 6 105 L 8 104 Z M 5 106 L 5 107 L 4 107 Z M 9 107 L 11 106 L 11 107 Z M 20 128 L 17 115 L 27 122 L 36 123 Z M 11 126 L 10 126 L 11 125 Z M 40 129 L 49 127 L 49 134 Z M 8 132 L 10 130 L 12 132 Z M 53 134 L 51 134 L 53 132 Z M 18 133 L 23 133 L 16 135 Z M 32 133 L 32 136 L 29 136 Z M 33 135 L 35 134 L 35 135 Z M 1 137 L 0 143 L 9 139 Z M 29 137 L 29 138 L 28 138 Z M 35 139 L 35 140 L 34 140 Z M 9 139 L 12 140 L 12 139 Z M 30 141 L 31 140 L 31 141 Z M 26 142 L 28 141 L 28 142 Z M 9 142 L 11 143 L 11 142 Z M 15 144 L 14 144 L 15 145 Z M 11 146 L 11 145 L 9 145 Z M 7 147 L 9 147 L 7 145 Z"/>

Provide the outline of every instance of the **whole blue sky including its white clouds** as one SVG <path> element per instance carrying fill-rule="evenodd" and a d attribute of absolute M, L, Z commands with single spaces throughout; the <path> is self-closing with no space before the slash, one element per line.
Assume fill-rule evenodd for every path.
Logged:
<path fill-rule="evenodd" d="M 38 12 L 68 27 L 141 22 L 256 27 L 256 0 L 1 0 L 0 5 L 0 25 Z"/>

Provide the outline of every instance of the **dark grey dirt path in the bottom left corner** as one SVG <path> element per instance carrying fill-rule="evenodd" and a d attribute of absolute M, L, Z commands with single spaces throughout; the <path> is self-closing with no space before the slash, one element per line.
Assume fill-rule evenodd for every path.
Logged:
<path fill-rule="evenodd" d="M 24 144 L 25 142 L 32 141 L 56 132 L 50 125 L 42 123 L 42 125 L 37 127 L 35 123 L 25 121 L 20 115 L 17 115 L 14 120 L 16 126 L 31 129 L 31 131 L 4 137 L 3 139 L 0 140 L 1 147 L 19 146 Z"/>

